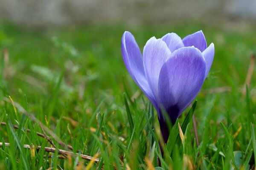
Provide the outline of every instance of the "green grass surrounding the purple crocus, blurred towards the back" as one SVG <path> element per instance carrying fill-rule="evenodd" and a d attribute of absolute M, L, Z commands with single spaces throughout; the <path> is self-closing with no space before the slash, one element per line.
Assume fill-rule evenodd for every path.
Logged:
<path fill-rule="evenodd" d="M 120 40 L 131 31 L 143 49 L 152 36 L 201 29 L 215 59 L 162 157 L 157 114 L 124 66 Z M 0 169 L 255 169 L 256 74 L 244 88 L 255 34 L 202 23 L 31 30 L 2 22 Z"/>

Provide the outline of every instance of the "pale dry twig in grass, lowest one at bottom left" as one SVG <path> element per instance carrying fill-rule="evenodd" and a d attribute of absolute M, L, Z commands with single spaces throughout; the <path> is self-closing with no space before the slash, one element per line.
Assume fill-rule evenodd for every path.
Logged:
<path fill-rule="evenodd" d="M 10 143 L 4 143 L 4 145 L 6 147 L 10 147 Z M 3 146 L 3 142 L 0 142 L 0 147 L 2 147 L 2 146 Z M 29 146 L 29 144 L 24 144 L 23 148 L 30 149 L 31 147 Z M 37 148 L 37 150 L 40 150 L 42 147 L 41 146 L 37 146 L 36 148 Z M 55 149 L 53 147 L 44 147 L 44 151 L 46 151 L 46 152 L 55 153 L 56 150 L 57 149 Z M 99 159 L 98 158 L 94 158 L 93 156 L 88 156 L 88 155 L 79 154 L 79 153 L 74 154 L 73 152 L 67 151 L 67 150 L 58 149 L 58 153 L 64 154 L 65 156 L 68 156 L 68 155 L 70 155 L 70 156 L 81 156 L 81 159 L 88 160 L 88 161 L 94 160 L 94 162 L 96 162 L 96 163 L 99 162 Z"/>

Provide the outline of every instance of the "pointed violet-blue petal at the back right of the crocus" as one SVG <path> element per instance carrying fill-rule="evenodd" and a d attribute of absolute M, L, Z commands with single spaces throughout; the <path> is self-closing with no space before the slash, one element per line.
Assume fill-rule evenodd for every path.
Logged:
<path fill-rule="evenodd" d="M 198 48 L 201 52 L 207 48 L 207 43 L 203 31 L 190 34 L 184 37 L 182 41 L 185 47 L 195 46 L 195 48 Z"/>

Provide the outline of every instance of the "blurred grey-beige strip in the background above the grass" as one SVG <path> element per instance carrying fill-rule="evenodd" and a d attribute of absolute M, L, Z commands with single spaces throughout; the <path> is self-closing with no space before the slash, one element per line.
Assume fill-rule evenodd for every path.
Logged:
<path fill-rule="evenodd" d="M 0 19 L 25 26 L 256 21 L 256 0 L 0 0 Z"/>

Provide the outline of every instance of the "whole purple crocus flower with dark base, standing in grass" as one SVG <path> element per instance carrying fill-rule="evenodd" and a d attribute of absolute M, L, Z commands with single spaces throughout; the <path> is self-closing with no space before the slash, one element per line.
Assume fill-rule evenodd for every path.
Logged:
<path fill-rule="evenodd" d="M 142 55 L 134 36 L 125 31 L 122 57 L 131 77 L 156 108 L 163 139 L 167 142 L 169 130 L 163 109 L 174 124 L 195 99 L 211 68 L 214 44 L 207 47 L 202 31 L 183 39 L 169 33 L 160 39 L 150 38 Z"/>

